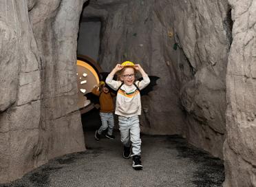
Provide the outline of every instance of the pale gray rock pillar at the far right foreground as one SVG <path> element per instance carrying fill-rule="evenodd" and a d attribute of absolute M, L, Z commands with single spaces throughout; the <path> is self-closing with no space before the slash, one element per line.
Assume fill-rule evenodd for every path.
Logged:
<path fill-rule="evenodd" d="M 224 186 L 256 186 L 256 1 L 229 3 L 234 25 L 226 75 Z"/>

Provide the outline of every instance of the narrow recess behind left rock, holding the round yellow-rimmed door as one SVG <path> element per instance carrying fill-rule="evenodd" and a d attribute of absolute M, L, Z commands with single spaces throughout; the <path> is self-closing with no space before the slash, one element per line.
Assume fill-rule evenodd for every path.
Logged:
<path fill-rule="evenodd" d="M 85 3 L 83 10 L 86 9 L 87 5 L 88 3 Z M 85 132 L 97 129 L 101 125 L 98 106 L 94 106 L 84 95 L 91 92 L 94 85 L 98 85 L 99 73 L 102 72 L 102 69 L 97 63 L 100 51 L 101 21 L 97 17 L 85 17 L 83 12 L 80 18 L 77 40 L 77 81 L 78 105 L 81 111 L 83 131 Z M 89 75 L 85 71 L 91 74 L 89 73 Z M 81 78 L 87 80 L 87 83 L 81 85 Z"/>

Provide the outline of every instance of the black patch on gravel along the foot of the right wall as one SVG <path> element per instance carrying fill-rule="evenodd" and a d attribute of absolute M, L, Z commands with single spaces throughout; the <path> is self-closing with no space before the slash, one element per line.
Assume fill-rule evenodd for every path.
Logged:
<path fill-rule="evenodd" d="M 175 147 L 178 151 L 177 158 L 189 158 L 198 164 L 196 173 L 193 173 L 193 183 L 198 187 L 222 186 L 225 179 L 224 162 L 209 155 L 206 151 L 188 144 L 186 140 L 178 135 L 167 137 L 169 148 Z"/>

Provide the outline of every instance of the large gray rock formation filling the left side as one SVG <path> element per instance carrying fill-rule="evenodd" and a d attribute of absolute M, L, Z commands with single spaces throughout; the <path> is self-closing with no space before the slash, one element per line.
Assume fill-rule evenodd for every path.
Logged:
<path fill-rule="evenodd" d="M 76 85 L 82 8 L 82 0 L 0 3 L 1 183 L 85 150 Z"/>

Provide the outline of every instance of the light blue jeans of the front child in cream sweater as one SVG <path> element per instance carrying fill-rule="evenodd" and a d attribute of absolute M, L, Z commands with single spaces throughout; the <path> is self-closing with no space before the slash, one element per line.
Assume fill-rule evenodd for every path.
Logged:
<path fill-rule="evenodd" d="M 132 155 L 140 155 L 140 121 L 138 115 L 132 117 L 118 116 L 121 142 L 124 146 L 132 146 Z"/>

